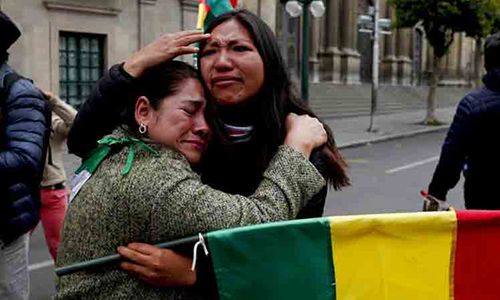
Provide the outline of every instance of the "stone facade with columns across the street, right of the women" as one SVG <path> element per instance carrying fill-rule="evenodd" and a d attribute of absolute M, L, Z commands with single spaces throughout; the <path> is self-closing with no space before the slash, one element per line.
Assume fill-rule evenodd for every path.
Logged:
<path fill-rule="evenodd" d="M 326 12 L 319 19 L 311 19 L 309 59 L 312 81 L 356 85 L 371 82 L 373 61 L 370 34 L 359 32 L 357 20 L 369 13 L 368 0 L 328 0 Z M 380 17 L 395 19 L 394 9 L 380 0 Z M 299 61 L 300 20 L 292 20 L 278 6 L 277 34 L 285 45 L 285 56 Z M 287 28 L 288 27 L 288 28 Z M 293 30 L 288 30 L 294 28 Z M 422 27 L 390 30 L 380 38 L 380 82 L 386 85 L 422 85 L 431 70 L 433 53 L 427 45 Z M 295 51 L 294 49 L 298 49 Z M 440 84 L 466 86 L 472 81 L 475 42 L 456 34 L 449 54 L 442 60 L 444 70 Z M 289 60 L 290 63 L 290 60 Z M 297 66 L 300 64 L 297 64 Z M 297 73 L 298 74 L 298 73 Z"/>

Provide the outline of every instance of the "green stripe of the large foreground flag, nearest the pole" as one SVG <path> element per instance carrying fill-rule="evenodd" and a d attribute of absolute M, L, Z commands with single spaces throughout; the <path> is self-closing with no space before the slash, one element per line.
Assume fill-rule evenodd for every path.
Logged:
<path fill-rule="evenodd" d="M 207 233 L 221 300 L 335 299 L 329 218 Z"/>

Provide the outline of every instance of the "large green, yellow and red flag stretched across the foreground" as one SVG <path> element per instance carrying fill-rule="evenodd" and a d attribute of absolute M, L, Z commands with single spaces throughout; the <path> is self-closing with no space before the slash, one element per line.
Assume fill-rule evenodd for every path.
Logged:
<path fill-rule="evenodd" d="M 206 235 L 224 299 L 500 299 L 500 212 L 294 220 Z"/>

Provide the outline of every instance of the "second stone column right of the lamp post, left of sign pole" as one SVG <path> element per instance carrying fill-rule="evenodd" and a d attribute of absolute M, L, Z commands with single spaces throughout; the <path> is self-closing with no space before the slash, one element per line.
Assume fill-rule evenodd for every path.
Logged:
<path fill-rule="evenodd" d="M 358 38 L 358 0 L 341 1 L 340 43 L 342 45 L 341 71 L 345 84 L 361 84 L 361 55 L 356 50 Z"/>

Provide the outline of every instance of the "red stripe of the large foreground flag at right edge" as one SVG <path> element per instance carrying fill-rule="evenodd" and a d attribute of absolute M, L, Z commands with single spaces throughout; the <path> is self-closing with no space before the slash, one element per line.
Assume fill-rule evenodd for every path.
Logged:
<path fill-rule="evenodd" d="M 500 211 L 457 211 L 455 300 L 500 297 Z"/>

